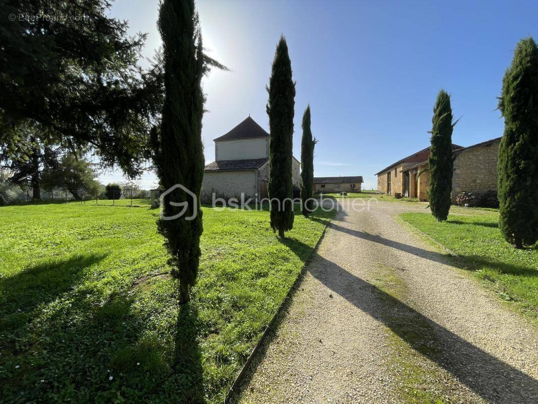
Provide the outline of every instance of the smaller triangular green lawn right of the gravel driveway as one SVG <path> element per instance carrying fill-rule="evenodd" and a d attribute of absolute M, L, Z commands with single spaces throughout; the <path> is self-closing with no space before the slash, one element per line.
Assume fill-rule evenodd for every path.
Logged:
<path fill-rule="evenodd" d="M 538 245 L 518 250 L 502 238 L 499 212 L 451 207 L 448 220 L 438 223 L 429 213 L 400 217 L 458 254 L 457 260 L 486 281 L 497 294 L 538 318 Z"/>

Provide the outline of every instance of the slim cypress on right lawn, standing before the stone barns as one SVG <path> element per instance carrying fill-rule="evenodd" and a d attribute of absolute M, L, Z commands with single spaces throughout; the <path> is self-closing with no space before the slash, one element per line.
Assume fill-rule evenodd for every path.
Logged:
<path fill-rule="evenodd" d="M 431 120 L 430 156 L 428 158 L 430 170 L 430 187 L 428 201 L 431 214 L 437 221 L 447 220 L 450 210 L 450 193 L 452 192 L 452 171 L 454 170 L 454 157 L 452 157 L 452 130 L 456 123 L 452 122 L 452 108 L 450 95 L 445 90 L 437 94 L 434 107 L 434 116 Z"/>

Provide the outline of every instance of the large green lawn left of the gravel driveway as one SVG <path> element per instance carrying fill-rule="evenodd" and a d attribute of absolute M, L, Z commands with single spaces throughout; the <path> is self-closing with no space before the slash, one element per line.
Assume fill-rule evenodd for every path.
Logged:
<path fill-rule="evenodd" d="M 332 212 L 202 208 L 199 281 L 178 308 L 157 211 L 0 208 L 2 402 L 222 402 Z"/>

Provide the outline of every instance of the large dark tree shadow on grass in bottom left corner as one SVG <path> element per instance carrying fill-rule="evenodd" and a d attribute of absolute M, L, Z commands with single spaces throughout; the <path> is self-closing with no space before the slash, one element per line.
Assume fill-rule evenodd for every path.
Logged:
<path fill-rule="evenodd" d="M 106 296 L 94 288 L 54 290 L 58 304 L 30 312 L 27 323 L 9 331 L 1 347 L 11 370 L 0 373 L 4 396 L 21 402 L 58 396 L 74 402 L 205 402 L 196 310 L 185 305 L 177 315 L 162 313 L 155 320 L 159 312 L 141 310 L 144 299 L 136 294 L 117 289 Z M 159 322 L 170 322 L 172 330 L 163 335 L 148 325 Z"/>

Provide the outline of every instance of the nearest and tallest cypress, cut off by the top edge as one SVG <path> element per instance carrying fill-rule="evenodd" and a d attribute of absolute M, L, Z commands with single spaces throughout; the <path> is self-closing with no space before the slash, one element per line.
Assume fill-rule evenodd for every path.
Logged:
<path fill-rule="evenodd" d="M 176 187 L 161 200 L 162 217 L 169 218 L 183 210 L 183 206 L 173 206 L 171 202 L 187 203 L 185 213 L 174 220 L 158 220 L 170 254 L 172 276 L 179 280 L 180 303 L 185 303 L 196 281 L 203 230 L 200 191 L 204 168 L 204 61 L 194 1 L 163 0 L 158 25 L 164 51 L 165 102 L 161 126 L 152 132 L 155 171 L 165 190 L 181 184 L 196 196 L 195 199 Z"/>

